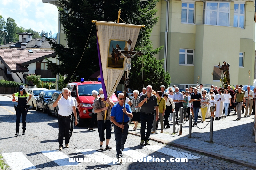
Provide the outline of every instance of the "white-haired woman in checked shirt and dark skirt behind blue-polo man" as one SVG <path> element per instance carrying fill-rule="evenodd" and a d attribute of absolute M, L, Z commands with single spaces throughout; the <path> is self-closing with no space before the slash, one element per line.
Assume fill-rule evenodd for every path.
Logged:
<path fill-rule="evenodd" d="M 133 130 L 137 130 L 137 126 L 138 126 L 138 123 L 140 121 L 140 107 L 138 107 L 140 97 L 138 95 L 139 95 L 139 91 L 134 90 L 133 91 L 133 97 L 132 97 L 132 100 L 131 100 L 132 115 L 133 115 L 132 122 L 134 123 Z"/>

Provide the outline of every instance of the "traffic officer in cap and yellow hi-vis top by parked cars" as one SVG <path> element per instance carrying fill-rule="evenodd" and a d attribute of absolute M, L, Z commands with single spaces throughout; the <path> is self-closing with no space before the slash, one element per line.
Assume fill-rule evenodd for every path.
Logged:
<path fill-rule="evenodd" d="M 18 97 L 18 101 L 15 99 L 15 96 Z M 24 85 L 21 85 L 19 88 L 19 92 L 12 94 L 14 101 L 18 102 L 17 109 L 16 109 L 16 134 L 19 135 L 19 128 L 20 128 L 20 116 L 22 115 L 22 135 L 25 135 L 26 130 L 26 117 L 28 113 L 28 101 L 31 99 L 32 94 L 29 94 L 24 89 Z"/>

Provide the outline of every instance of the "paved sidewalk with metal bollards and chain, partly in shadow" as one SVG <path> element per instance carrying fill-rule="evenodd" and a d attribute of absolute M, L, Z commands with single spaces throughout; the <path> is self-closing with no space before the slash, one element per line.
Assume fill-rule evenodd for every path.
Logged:
<path fill-rule="evenodd" d="M 158 130 L 150 135 L 150 139 L 256 169 L 256 143 L 255 136 L 252 135 L 254 116 L 242 114 L 241 121 L 235 121 L 237 117 L 233 113 L 230 114 L 227 118 L 213 122 L 213 143 L 209 143 L 210 123 L 202 130 L 193 126 L 192 138 L 188 138 L 189 121 L 182 126 L 182 135 L 178 135 L 179 132 L 172 134 L 170 121 L 170 129 L 164 129 L 164 133 L 160 133 L 159 123 Z M 198 123 L 198 126 L 203 128 L 209 120 Z M 129 126 L 129 133 L 140 136 L 140 128 L 133 131 L 133 127 L 133 124 Z"/>

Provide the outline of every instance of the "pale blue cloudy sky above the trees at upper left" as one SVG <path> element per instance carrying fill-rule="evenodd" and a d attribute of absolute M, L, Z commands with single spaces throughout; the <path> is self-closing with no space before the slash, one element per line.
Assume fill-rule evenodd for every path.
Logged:
<path fill-rule="evenodd" d="M 58 32 L 58 9 L 42 0 L 0 0 L 0 15 L 5 21 L 11 17 L 25 29 Z"/>

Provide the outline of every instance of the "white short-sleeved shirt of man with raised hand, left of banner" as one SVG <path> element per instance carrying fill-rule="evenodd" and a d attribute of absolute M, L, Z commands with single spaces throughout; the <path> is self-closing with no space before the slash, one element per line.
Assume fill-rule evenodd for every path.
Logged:
<path fill-rule="evenodd" d="M 72 114 L 72 106 L 75 106 L 75 101 L 73 98 L 68 97 L 66 100 L 63 96 L 61 97 L 61 100 L 58 101 L 59 106 L 59 115 L 61 116 L 69 116 Z"/>

